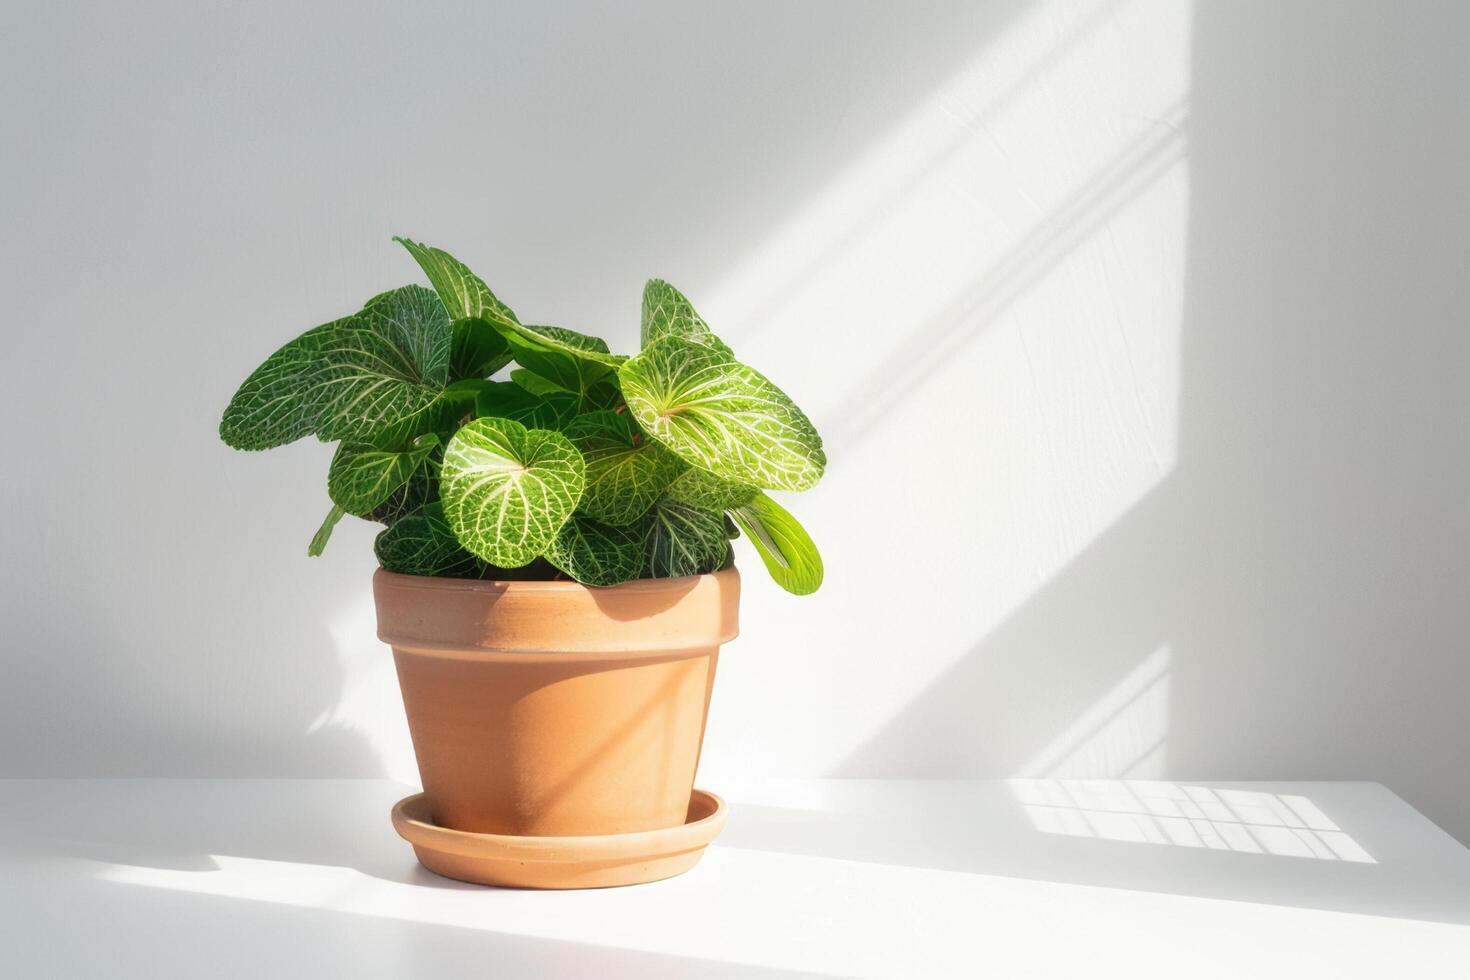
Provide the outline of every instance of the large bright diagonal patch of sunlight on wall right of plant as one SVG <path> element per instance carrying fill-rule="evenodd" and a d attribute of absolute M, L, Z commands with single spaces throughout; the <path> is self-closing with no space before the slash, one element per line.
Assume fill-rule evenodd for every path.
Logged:
<path fill-rule="evenodd" d="M 747 592 L 782 682 L 725 674 L 738 751 L 831 771 L 1172 473 L 1189 22 L 1036 4 L 701 301 L 741 357 L 788 363 L 831 458 L 792 501 L 823 592 Z M 820 357 L 789 363 L 792 338 Z M 792 732 L 810 691 L 853 723 Z"/>

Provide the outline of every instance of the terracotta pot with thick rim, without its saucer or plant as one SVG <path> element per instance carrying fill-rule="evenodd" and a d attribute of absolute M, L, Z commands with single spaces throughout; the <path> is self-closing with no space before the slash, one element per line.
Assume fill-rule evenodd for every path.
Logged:
<path fill-rule="evenodd" d="M 739 574 L 575 582 L 373 576 L 429 817 L 517 836 L 685 823 Z"/>

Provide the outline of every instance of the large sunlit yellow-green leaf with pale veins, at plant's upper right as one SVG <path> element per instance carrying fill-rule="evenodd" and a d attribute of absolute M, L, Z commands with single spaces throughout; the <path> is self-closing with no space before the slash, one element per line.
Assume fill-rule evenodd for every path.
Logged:
<path fill-rule="evenodd" d="M 826 454 L 811 420 L 729 353 L 664 336 L 617 378 L 642 430 L 697 467 L 766 489 L 803 491 L 822 479 Z"/>

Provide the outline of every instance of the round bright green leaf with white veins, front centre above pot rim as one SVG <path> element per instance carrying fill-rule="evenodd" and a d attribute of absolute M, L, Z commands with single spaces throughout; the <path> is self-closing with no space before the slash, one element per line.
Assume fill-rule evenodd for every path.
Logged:
<path fill-rule="evenodd" d="M 450 439 L 444 513 L 466 550 L 506 569 L 551 544 L 582 497 L 582 454 L 560 432 L 476 419 Z"/>

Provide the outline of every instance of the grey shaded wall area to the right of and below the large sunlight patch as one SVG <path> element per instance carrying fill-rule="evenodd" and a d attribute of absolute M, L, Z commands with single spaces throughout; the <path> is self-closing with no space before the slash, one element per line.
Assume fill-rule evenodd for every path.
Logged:
<path fill-rule="evenodd" d="M 1167 646 L 1154 774 L 1394 773 L 1470 839 L 1445 777 L 1467 748 L 1467 31 L 1452 4 L 1198 6 L 1177 467 L 838 774 L 1020 771 L 1055 736 L 1025 705 L 1080 714 Z"/>

